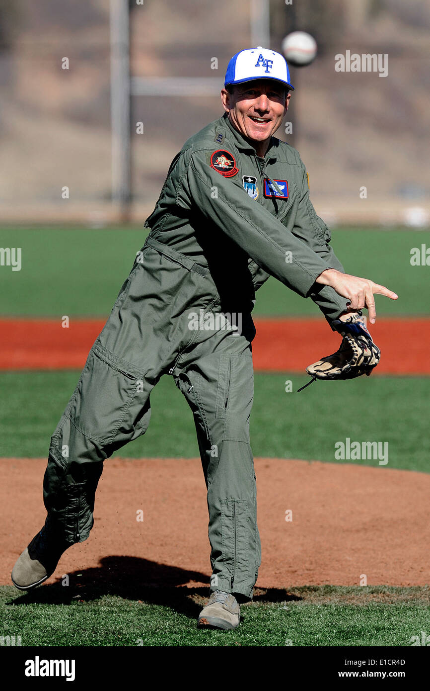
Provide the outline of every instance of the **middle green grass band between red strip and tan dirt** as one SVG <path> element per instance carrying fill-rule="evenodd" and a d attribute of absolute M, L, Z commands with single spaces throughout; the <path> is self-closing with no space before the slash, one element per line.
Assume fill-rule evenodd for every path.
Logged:
<path fill-rule="evenodd" d="M 78 371 L 2 372 L 0 455 L 46 456 L 52 434 L 75 388 Z M 285 392 L 285 381 L 293 392 Z M 389 443 L 389 462 L 345 461 L 428 473 L 430 378 L 369 377 L 317 381 L 297 395 L 306 375 L 255 374 L 251 442 L 255 456 L 336 461 L 335 442 Z M 146 435 L 124 446 L 126 457 L 196 457 L 193 417 L 170 377 L 151 395 Z M 25 410 L 25 415 L 22 411 Z"/>

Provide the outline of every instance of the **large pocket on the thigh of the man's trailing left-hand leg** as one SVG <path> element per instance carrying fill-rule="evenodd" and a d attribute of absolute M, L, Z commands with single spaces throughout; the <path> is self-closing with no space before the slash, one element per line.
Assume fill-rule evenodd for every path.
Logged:
<path fill-rule="evenodd" d="M 110 444 L 119 427 L 133 429 L 127 414 L 143 375 L 96 341 L 70 408 L 72 424 L 90 439 Z"/>

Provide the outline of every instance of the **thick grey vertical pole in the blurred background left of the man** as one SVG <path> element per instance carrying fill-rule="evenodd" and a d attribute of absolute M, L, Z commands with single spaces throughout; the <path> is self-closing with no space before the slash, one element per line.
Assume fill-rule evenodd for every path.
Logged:
<path fill-rule="evenodd" d="M 112 200 L 130 214 L 130 34 L 128 0 L 110 0 L 110 113 Z"/>

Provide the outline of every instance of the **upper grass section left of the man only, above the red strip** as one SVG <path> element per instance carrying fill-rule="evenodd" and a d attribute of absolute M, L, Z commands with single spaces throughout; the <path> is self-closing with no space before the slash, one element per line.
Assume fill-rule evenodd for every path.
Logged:
<path fill-rule="evenodd" d="M 21 271 L 1 267 L 1 313 L 108 316 L 146 232 L 73 227 L 0 230 L 0 247 L 21 247 L 22 256 Z"/>

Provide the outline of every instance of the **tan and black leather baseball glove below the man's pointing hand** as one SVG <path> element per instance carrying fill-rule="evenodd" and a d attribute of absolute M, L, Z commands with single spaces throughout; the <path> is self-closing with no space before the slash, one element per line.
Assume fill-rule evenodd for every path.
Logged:
<path fill-rule="evenodd" d="M 379 361 L 381 351 L 372 341 L 360 314 L 351 314 L 346 321 L 335 319 L 331 323 L 334 331 L 342 336 L 339 350 L 332 355 L 326 355 L 309 367 L 306 372 L 312 379 L 299 389 L 306 388 L 315 379 L 355 379 L 362 375 L 371 375 Z"/>

